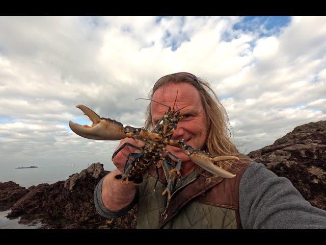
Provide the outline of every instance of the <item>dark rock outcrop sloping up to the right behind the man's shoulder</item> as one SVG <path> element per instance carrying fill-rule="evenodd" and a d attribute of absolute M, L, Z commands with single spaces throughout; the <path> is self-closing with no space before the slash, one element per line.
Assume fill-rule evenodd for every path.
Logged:
<path fill-rule="evenodd" d="M 311 205 L 326 210 L 326 121 L 298 126 L 248 156 L 288 178 Z"/>

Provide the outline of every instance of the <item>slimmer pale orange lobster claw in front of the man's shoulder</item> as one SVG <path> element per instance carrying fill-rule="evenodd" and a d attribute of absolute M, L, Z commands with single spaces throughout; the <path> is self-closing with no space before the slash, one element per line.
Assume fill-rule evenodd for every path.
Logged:
<path fill-rule="evenodd" d="M 195 162 L 198 166 L 204 168 L 214 175 L 220 176 L 222 178 L 233 178 L 236 175 L 224 170 L 223 168 L 214 165 L 213 162 L 225 161 L 225 160 L 239 160 L 235 156 L 220 156 L 220 157 L 209 157 L 207 154 L 200 150 L 194 150 L 194 152 L 189 155 L 189 158 Z"/>

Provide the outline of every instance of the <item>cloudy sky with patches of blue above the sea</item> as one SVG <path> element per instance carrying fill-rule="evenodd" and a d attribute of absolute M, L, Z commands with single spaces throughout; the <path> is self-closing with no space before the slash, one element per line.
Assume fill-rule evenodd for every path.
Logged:
<path fill-rule="evenodd" d="M 326 120 L 325 16 L 1 16 L 0 170 L 89 164 L 113 170 L 118 141 L 82 138 L 83 104 L 144 126 L 155 81 L 209 82 L 248 154 Z"/>

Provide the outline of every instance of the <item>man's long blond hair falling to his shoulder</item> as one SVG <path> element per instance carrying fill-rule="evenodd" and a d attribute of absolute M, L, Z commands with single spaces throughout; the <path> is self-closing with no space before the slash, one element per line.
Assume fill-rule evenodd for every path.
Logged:
<path fill-rule="evenodd" d="M 238 152 L 236 146 L 231 141 L 231 131 L 228 128 L 230 125 L 228 114 L 221 104 L 221 101 L 216 93 L 211 89 L 209 83 L 203 79 L 194 81 L 187 77 L 167 75 L 156 82 L 153 89 L 149 92 L 149 97 L 152 99 L 155 91 L 159 87 L 163 87 L 170 83 L 189 83 L 193 85 L 199 92 L 201 102 L 206 112 L 207 125 L 207 140 L 203 149 L 209 152 L 212 156 L 236 156 L 240 159 L 239 163 L 249 163 L 252 160 Z M 151 115 L 151 103 L 147 106 L 145 112 L 145 128 L 151 130 L 153 120 Z M 232 129 L 232 126 L 230 125 Z M 220 162 L 220 166 L 224 169 L 230 169 L 232 161 Z"/>

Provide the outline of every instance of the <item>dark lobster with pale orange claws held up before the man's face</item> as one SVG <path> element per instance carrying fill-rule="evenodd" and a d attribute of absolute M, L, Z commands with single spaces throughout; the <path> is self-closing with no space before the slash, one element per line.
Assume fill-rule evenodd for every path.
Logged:
<path fill-rule="evenodd" d="M 159 103 L 159 102 L 157 102 Z M 160 103 L 159 103 L 160 104 Z M 166 106 L 166 105 L 165 105 Z M 178 122 L 182 119 L 182 114 L 180 110 L 175 110 L 174 106 L 171 109 L 170 106 L 165 112 L 164 116 L 158 120 L 152 131 L 145 128 L 134 128 L 131 126 L 125 126 L 116 120 L 110 118 L 104 118 L 97 115 L 94 111 L 84 105 L 77 105 L 77 108 L 82 110 L 85 115 L 87 115 L 93 122 L 92 126 L 79 125 L 73 121 L 69 121 L 69 127 L 71 130 L 79 136 L 88 139 L 97 140 L 121 140 L 126 137 L 141 140 L 144 142 L 145 146 L 140 148 L 131 143 L 124 143 L 121 147 L 113 154 L 114 157 L 125 147 L 131 146 L 141 153 L 130 153 L 125 161 L 124 167 L 122 169 L 122 174 L 115 176 L 116 180 L 120 180 L 125 183 L 133 183 L 139 185 L 143 181 L 143 176 L 150 166 L 155 164 L 157 179 L 154 185 L 155 187 L 158 181 L 158 168 L 162 164 L 169 170 L 169 178 L 167 178 L 167 187 L 162 192 L 162 195 L 168 193 L 168 200 L 171 199 L 172 192 L 172 182 L 175 177 L 181 178 L 180 168 L 181 160 L 173 155 L 171 152 L 166 151 L 167 145 L 172 145 L 180 148 L 182 152 L 187 155 L 195 164 L 207 170 L 209 173 L 223 178 L 233 178 L 236 175 L 229 173 L 227 170 L 217 166 L 214 162 L 225 161 L 225 160 L 239 160 L 235 156 L 211 156 L 209 153 L 193 149 L 191 145 L 185 143 L 183 139 L 172 140 L 171 137 L 174 131 L 177 129 Z M 169 158 L 176 162 L 175 166 L 169 162 L 166 158 Z"/>

